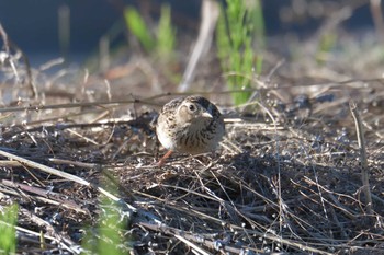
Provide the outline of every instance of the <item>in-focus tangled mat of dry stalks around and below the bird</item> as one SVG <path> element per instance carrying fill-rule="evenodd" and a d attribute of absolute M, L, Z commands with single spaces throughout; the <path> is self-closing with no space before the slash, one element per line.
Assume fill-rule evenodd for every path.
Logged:
<path fill-rule="evenodd" d="M 359 104 L 365 111 L 372 205 L 362 196 L 348 101 L 298 102 L 290 114 L 307 112 L 302 118 L 271 105 L 264 105 L 268 113 L 258 107 L 258 114 L 247 116 L 227 109 L 219 154 L 176 155 L 161 169 L 155 166 L 155 112 L 69 123 L 71 108 L 4 107 L 4 114 L 20 109 L 18 118 L 32 124 L 2 125 L 1 205 L 20 204 L 21 252 L 31 246 L 42 252 L 42 231 L 46 250 L 78 253 L 81 229 L 97 222 L 102 194 L 129 215 L 125 231 L 135 251 L 377 254 L 384 206 L 382 135 L 372 127 L 381 117 L 371 114 L 379 111 L 373 106 L 377 97 Z M 112 111 L 99 107 L 102 102 L 68 105 L 88 108 L 75 115 Z M 48 111 L 56 120 L 34 120 Z M 114 182 L 118 194 L 103 189 L 102 179 Z"/>

